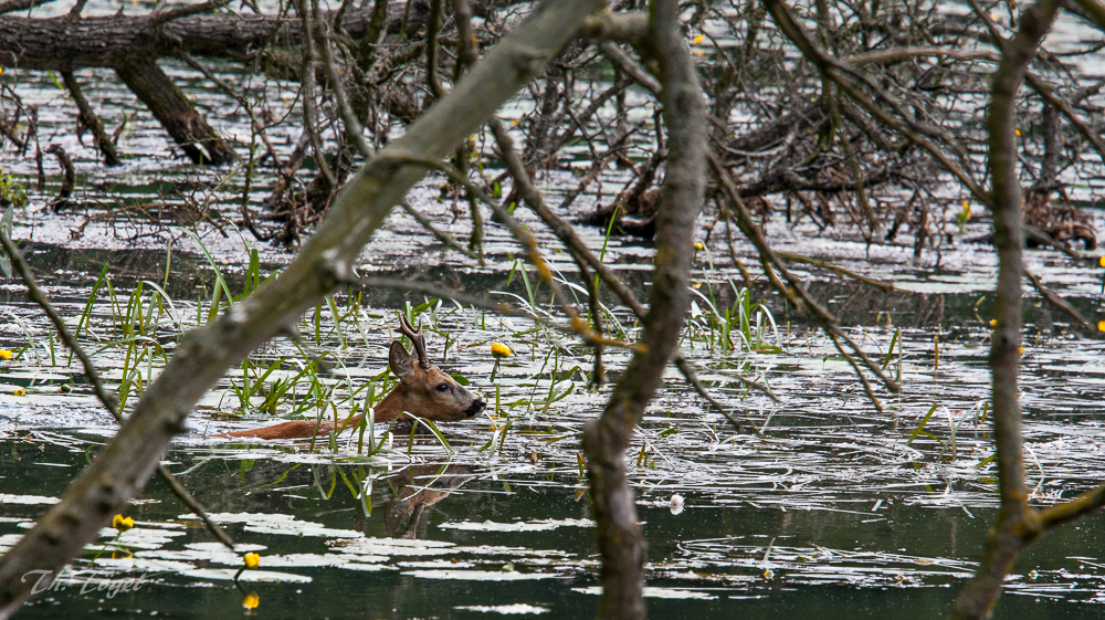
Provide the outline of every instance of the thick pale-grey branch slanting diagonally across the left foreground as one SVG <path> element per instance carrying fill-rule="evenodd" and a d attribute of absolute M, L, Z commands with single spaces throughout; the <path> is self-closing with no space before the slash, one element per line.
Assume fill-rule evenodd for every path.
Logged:
<path fill-rule="evenodd" d="M 413 154 L 441 159 L 455 149 L 544 71 L 600 4 L 600 0 L 556 0 L 536 8 L 449 95 L 361 168 L 275 281 L 181 339 L 110 445 L 0 558 L 0 620 L 31 596 L 34 581 L 22 581 L 23 575 L 56 574 L 143 488 L 169 441 L 185 430 L 196 402 L 230 366 L 294 325 L 339 283 L 356 281 L 352 266 L 358 254 L 392 206 L 424 174 L 424 166 L 406 164 L 403 158 Z"/>

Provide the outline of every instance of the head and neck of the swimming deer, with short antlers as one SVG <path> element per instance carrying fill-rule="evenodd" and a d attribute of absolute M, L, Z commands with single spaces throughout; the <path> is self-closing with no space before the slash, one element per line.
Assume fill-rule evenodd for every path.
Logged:
<path fill-rule="evenodd" d="M 407 322 L 407 317 L 401 316 L 399 326 L 411 340 L 411 353 L 407 353 L 399 340 L 391 343 L 388 361 L 391 364 L 391 371 L 399 377 L 399 386 L 377 408 L 377 421 L 408 411 L 420 418 L 452 422 L 475 417 L 487 407 L 482 398 L 430 364 L 421 325 L 415 330 Z M 390 416 L 381 416 L 383 412 L 380 409 L 391 409 L 393 413 L 388 411 Z"/>

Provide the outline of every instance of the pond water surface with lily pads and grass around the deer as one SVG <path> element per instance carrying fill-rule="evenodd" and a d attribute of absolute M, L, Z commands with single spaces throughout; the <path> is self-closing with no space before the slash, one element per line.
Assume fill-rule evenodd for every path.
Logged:
<path fill-rule="evenodd" d="M 210 93 L 203 96 L 197 74 L 165 65 L 190 93 L 200 94 L 200 106 L 220 130 L 245 130 L 241 111 Z M 224 71 L 228 78 L 245 80 L 233 67 Z M 119 204 L 180 204 L 187 198 L 209 200 L 233 219 L 242 186 L 229 178 L 230 168 L 181 164 L 152 118 L 108 72 L 87 72 L 82 80 L 90 80 L 90 97 L 105 102 L 105 117 L 137 111 L 120 143 L 131 156 L 122 170 L 99 166 L 88 140 L 82 146 L 72 135 L 72 104 L 49 76 L 6 72 L 3 78 L 20 81 L 24 101 L 40 105 L 40 132 L 65 145 L 78 171 L 81 206 L 60 213 L 45 207 L 59 171 L 48 175 L 41 192 L 28 181 L 31 200 L 15 212 L 14 237 L 27 240 L 45 290 L 70 325 L 82 326 L 82 344 L 124 404 L 133 404 L 179 334 L 212 316 L 220 283 L 231 293 L 218 297 L 221 309 L 228 296 L 249 286 L 252 250 L 262 276 L 291 254 L 255 243 L 225 222 L 200 222 L 188 229 L 191 237 L 149 219 L 97 217 Z M 29 82 L 32 87 L 25 87 Z M 272 101 L 287 98 L 273 88 Z M 277 128 L 273 138 L 290 149 L 296 135 Z M 579 148 L 582 158 L 586 149 Z M 0 162 L 17 179 L 35 175 L 30 158 L 6 150 Z M 495 162 L 487 165 L 493 176 Z M 254 182 L 264 186 L 271 175 L 262 169 Z M 606 178 L 609 188 L 628 178 L 619 175 Z M 551 197 L 573 187 L 569 172 L 550 171 L 540 181 Z M 1096 210 L 1098 181 L 1072 191 L 1091 209 L 1097 230 L 1105 230 Z M 439 199 L 441 182 L 428 178 L 410 200 L 439 227 L 465 238 L 466 220 L 455 217 L 451 199 Z M 606 198 L 581 197 L 571 214 L 609 200 L 617 191 L 609 188 Z M 251 204 L 260 208 L 261 198 L 251 196 Z M 949 190 L 947 199 L 955 208 L 961 197 Z M 519 209 L 517 216 L 538 235 L 564 281 L 579 286 L 570 259 L 552 250 L 551 235 L 530 213 Z M 938 251 L 926 251 L 919 261 L 908 234 L 897 245 L 867 248 L 849 229 L 821 233 L 781 218 L 767 223 L 779 250 L 830 260 L 897 286 L 886 295 L 796 265 L 849 334 L 901 378 L 899 395 L 876 387 L 882 412 L 831 343 L 764 285 L 750 246 L 736 242 L 756 279 L 747 291 L 728 259 L 724 224 L 709 213 L 702 224 L 695 305 L 681 350 L 743 428 L 709 409 L 670 369 L 628 455 L 649 542 L 650 613 L 943 616 L 976 567 L 997 506 L 987 420 L 996 261 L 987 245 L 967 241 L 983 234 L 988 220 L 962 231 L 949 223 Z M 580 231 L 596 251 L 603 248 L 602 231 Z M 613 238 L 606 248 L 606 262 L 645 295 L 651 245 Z M 448 253 L 411 218 L 393 213 L 364 254 L 360 272 L 487 293 L 547 316 L 546 291 L 534 291 L 532 272 L 523 276 L 516 244 L 501 227 L 488 228 L 485 252 L 485 265 Z M 1074 264 L 1056 252 L 1032 251 L 1027 264 L 1092 322 L 1105 315 L 1096 262 Z M 1048 506 L 1102 482 L 1105 346 L 1034 292 L 1027 296 L 1025 462 L 1031 502 Z M 114 423 L 80 366 L 25 301 L 22 285 L 4 280 L 0 300 L 0 348 L 15 353 L 0 362 L 2 550 L 103 450 Z M 746 324 L 730 320 L 736 327 L 720 334 L 726 311 L 739 317 L 744 300 Z M 613 333 L 633 339 L 632 318 L 614 298 L 603 301 Z M 490 403 L 487 413 L 441 424 L 441 440 L 419 435 L 413 443 L 406 431 L 382 424 L 366 429 L 362 438 L 346 432 L 333 441 L 317 438 L 314 445 L 213 437 L 292 417 L 344 419 L 366 401 L 375 403 L 390 387 L 387 347 L 406 304 L 428 328 L 431 358 L 478 390 Z M 403 290 L 340 292 L 333 304 L 308 312 L 298 332 L 299 340 L 277 338 L 232 369 L 203 398 L 189 432 L 165 458 L 234 537 L 238 550 L 260 554 L 261 565 L 235 584 L 240 553 L 220 546 L 152 480 L 126 512 L 135 527 L 122 534 L 105 528 L 20 617 L 594 613 L 598 558 L 579 435 L 601 412 L 610 389 L 588 390 L 589 349 L 530 320 Z M 509 346 L 513 355 L 496 364 L 492 343 Z M 323 356 L 326 367 L 308 364 L 314 356 Z M 612 378 L 625 360 L 622 351 L 606 351 Z M 769 386 L 778 401 L 736 375 Z M 1007 582 L 997 617 L 1101 617 L 1103 518 L 1096 514 L 1062 527 L 1030 548 Z M 243 609 L 248 595 L 257 597 L 255 609 Z"/>

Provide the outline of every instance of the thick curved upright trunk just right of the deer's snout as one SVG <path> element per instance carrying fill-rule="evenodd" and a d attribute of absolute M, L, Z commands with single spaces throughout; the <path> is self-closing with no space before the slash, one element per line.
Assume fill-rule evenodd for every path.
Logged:
<path fill-rule="evenodd" d="M 645 616 L 645 545 L 625 479 L 625 450 L 686 322 L 692 232 L 706 186 L 706 104 L 680 30 L 678 3 L 654 0 L 650 10 L 650 36 L 642 46 L 660 69 L 660 99 L 670 136 L 667 175 L 656 214 L 656 266 L 641 334 L 643 348 L 614 386 L 602 418 L 588 422 L 583 431 L 602 558 L 600 618 Z"/>

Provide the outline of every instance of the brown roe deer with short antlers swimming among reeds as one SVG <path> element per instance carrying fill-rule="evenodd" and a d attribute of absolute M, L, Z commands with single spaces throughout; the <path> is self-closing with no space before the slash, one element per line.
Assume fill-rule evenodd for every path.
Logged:
<path fill-rule="evenodd" d="M 464 389 L 452 377 L 430 364 L 430 358 L 425 355 L 425 338 L 422 336 L 421 324 L 415 330 L 407 322 L 407 317 L 400 316 L 399 327 L 403 335 L 410 338 L 414 356 L 412 358 L 399 340 L 391 341 L 388 361 L 391 364 L 391 371 L 399 377 L 399 385 L 376 406 L 377 422 L 390 422 L 404 411 L 428 420 L 454 422 L 473 418 L 487 407 L 482 398 Z M 362 414 L 354 416 L 338 427 L 332 421 L 296 420 L 218 437 L 261 439 L 296 439 L 316 434 L 326 437 L 335 428 L 356 428 L 361 417 Z"/>

